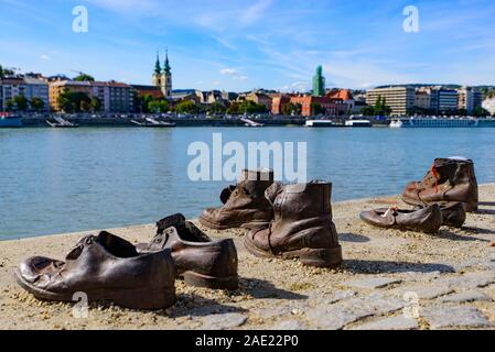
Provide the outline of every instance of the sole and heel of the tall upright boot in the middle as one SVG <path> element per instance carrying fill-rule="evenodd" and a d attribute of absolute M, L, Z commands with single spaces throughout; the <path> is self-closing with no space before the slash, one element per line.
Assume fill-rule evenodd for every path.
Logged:
<path fill-rule="evenodd" d="M 316 267 L 338 267 L 342 264 L 342 246 L 332 249 L 301 249 L 297 251 L 283 252 L 279 255 L 273 255 L 270 252 L 262 251 L 252 246 L 246 239 L 244 240 L 246 250 L 258 257 L 276 257 L 281 260 L 298 258 L 302 264 Z"/>

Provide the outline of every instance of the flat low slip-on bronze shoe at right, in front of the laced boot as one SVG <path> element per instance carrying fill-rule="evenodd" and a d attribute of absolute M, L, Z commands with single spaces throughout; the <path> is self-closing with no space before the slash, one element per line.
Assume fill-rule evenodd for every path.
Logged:
<path fill-rule="evenodd" d="M 398 209 L 397 207 L 363 211 L 359 218 L 374 227 L 438 233 L 443 217 L 438 205 L 421 209 Z"/>

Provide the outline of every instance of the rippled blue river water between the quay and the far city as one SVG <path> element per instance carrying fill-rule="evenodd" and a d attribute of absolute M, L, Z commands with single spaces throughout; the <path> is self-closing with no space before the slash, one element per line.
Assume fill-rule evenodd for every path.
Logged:
<path fill-rule="evenodd" d="M 495 182 L 495 129 L 0 130 L 0 240 L 197 217 L 232 184 L 187 176 L 187 147 L 213 133 L 306 142 L 308 177 L 333 182 L 334 201 L 398 194 L 441 156 L 471 157 L 478 182 Z"/>

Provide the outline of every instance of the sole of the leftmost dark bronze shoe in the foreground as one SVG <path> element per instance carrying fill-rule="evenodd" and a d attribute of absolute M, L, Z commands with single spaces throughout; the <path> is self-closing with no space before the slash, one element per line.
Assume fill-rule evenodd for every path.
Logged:
<path fill-rule="evenodd" d="M 74 299 L 74 294 L 76 294 L 76 292 L 71 294 L 56 294 L 45 289 L 41 289 L 24 280 L 19 270 L 15 270 L 14 276 L 15 280 L 23 289 L 39 299 L 77 302 L 77 300 Z M 89 302 L 110 301 L 125 308 L 142 310 L 165 309 L 173 306 L 176 301 L 175 287 L 166 287 L 162 289 L 150 289 L 142 287 L 122 288 L 116 290 L 111 295 L 109 295 L 108 293 L 104 293 L 103 290 L 94 290 L 90 294 L 84 294 L 88 296 Z M 137 297 L 140 298 L 137 299 Z"/>

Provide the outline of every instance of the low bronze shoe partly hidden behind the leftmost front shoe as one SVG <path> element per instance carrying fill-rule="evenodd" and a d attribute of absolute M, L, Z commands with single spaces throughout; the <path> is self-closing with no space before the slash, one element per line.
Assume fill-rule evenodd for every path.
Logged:
<path fill-rule="evenodd" d="M 140 252 L 170 249 L 176 276 L 189 285 L 238 288 L 237 250 L 233 240 L 214 241 L 180 213 L 160 220 L 157 228 L 151 243 L 138 244 Z"/>

